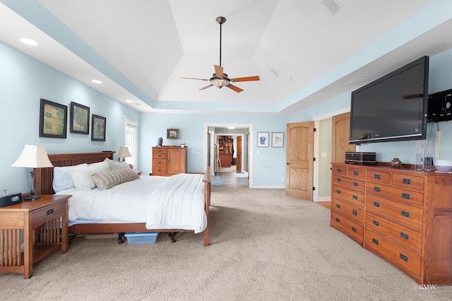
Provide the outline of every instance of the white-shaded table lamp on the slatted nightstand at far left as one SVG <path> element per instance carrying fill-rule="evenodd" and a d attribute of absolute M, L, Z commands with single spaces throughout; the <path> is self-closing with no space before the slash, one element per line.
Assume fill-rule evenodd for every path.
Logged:
<path fill-rule="evenodd" d="M 36 172 L 35 172 L 34 168 L 54 167 L 54 165 L 52 165 L 52 163 L 50 163 L 49 156 L 47 156 L 47 151 L 45 150 L 45 146 L 25 145 L 23 147 L 23 151 L 20 154 L 19 158 L 11 166 L 32 167 L 33 168 L 33 170 L 30 172 L 30 175 L 31 175 L 30 194 L 31 194 L 31 196 L 29 196 L 25 199 L 31 200 L 31 201 L 41 199 L 40 196 L 36 195 L 36 188 L 35 188 Z"/>

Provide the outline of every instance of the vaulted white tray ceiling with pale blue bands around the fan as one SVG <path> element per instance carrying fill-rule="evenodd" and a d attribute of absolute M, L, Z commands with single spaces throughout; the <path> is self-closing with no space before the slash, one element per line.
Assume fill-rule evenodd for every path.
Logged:
<path fill-rule="evenodd" d="M 0 40 L 140 112 L 228 114 L 293 114 L 452 47 L 446 1 L 323 1 L 3 0 Z M 242 93 L 180 78 L 215 72 L 218 16 L 225 73 L 261 78 Z"/>

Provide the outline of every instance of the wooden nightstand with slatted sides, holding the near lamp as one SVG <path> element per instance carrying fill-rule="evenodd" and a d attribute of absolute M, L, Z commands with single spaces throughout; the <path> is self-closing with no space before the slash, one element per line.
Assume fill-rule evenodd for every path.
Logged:
<path fill-rule="evenodd" d="M 0 208 L 0 272 L 33 275 L 33 264 L 61 247 L 68 251 L 68 199 L 70 195 L 42 195 Z M 23 253 L 20 252 L 23 230 Z"/>

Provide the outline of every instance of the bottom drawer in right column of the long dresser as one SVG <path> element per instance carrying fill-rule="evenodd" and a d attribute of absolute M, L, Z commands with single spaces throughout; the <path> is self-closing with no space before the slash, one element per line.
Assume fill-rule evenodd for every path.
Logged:
<path fill-rule="evenodd" d="M 408 249 L 400 247 L 373 231 L 366 231 L 364 248 L 381 256 L 402 270 L 420 276 L 421 257 Z"/>

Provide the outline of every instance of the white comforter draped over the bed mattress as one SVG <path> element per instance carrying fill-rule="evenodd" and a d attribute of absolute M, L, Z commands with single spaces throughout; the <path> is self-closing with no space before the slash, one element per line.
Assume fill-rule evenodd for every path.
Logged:
<path fill-rule="evenodd" d="M 148 229 L 203 232 L 207 226 L 203 175 L 141 176 L 107 190 L 67 189 L 69 220 L 146 223 Z"/>

